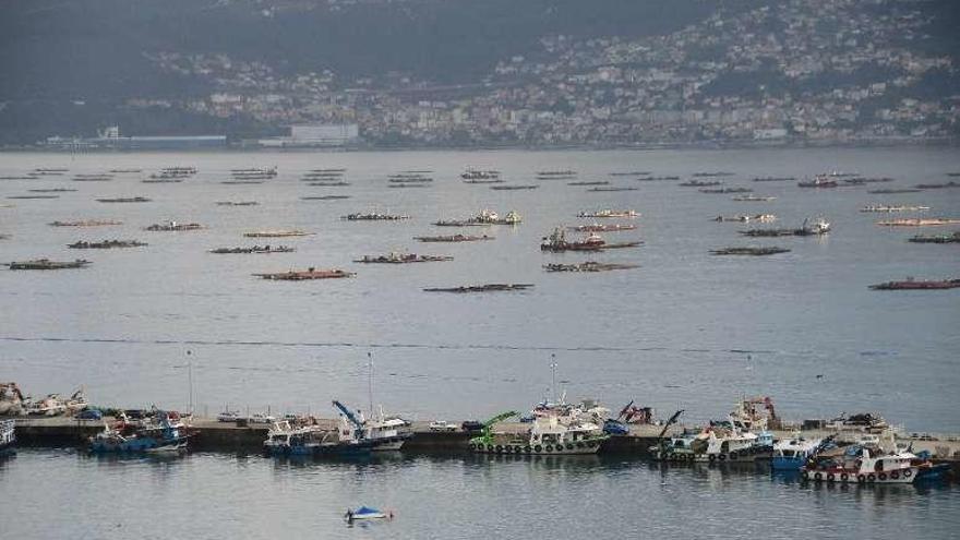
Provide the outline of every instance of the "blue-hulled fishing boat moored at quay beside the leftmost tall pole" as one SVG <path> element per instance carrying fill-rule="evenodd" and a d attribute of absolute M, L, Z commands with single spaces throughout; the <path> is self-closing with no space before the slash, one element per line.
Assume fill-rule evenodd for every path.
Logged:
<path fill-rule="evenodd" d="M 89 437 L 92 453 L 179 452 L 189 439 L 187 427 L 172 412 L 157 410 L 153 418 L 134 423 L 125 417 L 115 425 L 104 421 L 104 431 Z"/>

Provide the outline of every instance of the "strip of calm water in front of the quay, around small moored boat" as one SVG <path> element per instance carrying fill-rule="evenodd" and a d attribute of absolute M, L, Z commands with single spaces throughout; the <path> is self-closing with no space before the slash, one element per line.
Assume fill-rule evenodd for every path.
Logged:
<path fill-rule="evenodd" d="M 0 461 L 4 538 L 951 538 L 951 487 L 802 484 L 752 468 L 586 458 L 298 464 L 21 451 Z M 361 504 L 389 523 L 347 527 Z"/>

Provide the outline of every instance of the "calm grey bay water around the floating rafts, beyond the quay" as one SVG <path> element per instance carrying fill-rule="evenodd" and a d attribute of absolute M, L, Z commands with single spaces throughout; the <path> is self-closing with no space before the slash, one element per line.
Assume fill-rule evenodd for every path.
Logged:
<path fill-rule="evenodd" d="M 178 165 L 196 167 L 200 173 L 176 184 L 141 182 L 160 167 Z M 255 185 L 220 183 L 231 168 L 262 166 L 277 166 L 279 177 Z M 609 180 L 637 190 L 592 193 L 567 181 L 543 181 L 530 191 L 493 191 L 463 183 L 459 173 L 467 166 L 500 169 L 511 183 L 537 183 L 537 170 L 575 169 L 577 180 Z M 269 407 L 273 412 L 333 416 L 332 398 L 365 404 L 371 352 L 376 401 L 420 420 L 483 418 L 528 408 L 549 392 L 549 365 L 555 361 L 557 386 L 568 398 L 596 397 L 611 408 L 636 399 L 661 416 L 684 408 L 685 418 L 697 421 L 724 415 L 740 395 L 764 394 L 773 396 L 780 412 L 793 419 L 873 410 L 912 431 L 960 431 L 960 291 L 867 289 L 905 276 L 960 276 L 957 248 L 908 243 L 920 230 L 874 225 L 899 215 L 857 212 L 872 203 L 923 204 L 932 207 L 925 215 L 960 217 L 957 189 L 866 193 L 877 187 L 947 181 L 947 172 L 960 171 L 956 148 L 0 154 L 0 176 L 36 167 L 69 167 L 70 175 L 142 167 L 144 173 L 118 175 L 110 182 L 73 182 L 70 175 L 0 180 L 0 233 L 11 236 L 0 240 L 0 259 L 94 262 L 80 271 L 0 272 L 0 380 L 16 381 L 27 393 L 67 393 L 83 384 L 95 404 L 183 408 L 189 361 L 201 412 L 213 415 L 229 404 L 250 411 Z M 347 168 L 351 185 L 312 188 L 299 181 L 308 169 L 329 167 Z M 409 169 L 432 170 L 435 181 L 423 189 L 387 188 L 387 175 Z M 723 179 L 727 185 L 745 185 L 777 200 L 734 202 L 729 194 L 699 193 L 677 181 L 609 176 L 634 170 L 683 179 L 697 171 L 732 171 L 735 176 Z M 801 179 L 829 170 L 896 180 L 833 190 L 749 181 L 767 176 Z M 7 199 L 48 188 L 77 191 L 53 200 Z M 323 194 L 350 199 L 300 199 Z M 153 202 L 95 201 L 134 195 Z M 260 205 L 227 207 L 216 201 Z M 412 239 L 456 232 L 430 224 L 483 207 L 501 214 L 516 209 L 524 224 L 469 230 L 496 237 L 487 242 L 421 244 Z M 540 238 L 554 226 L 585 223 L 575 217 L 578 212 L 608 207 L 643 214 L 633 220 L 637 230 L 607 235 L 609 240 L 641 239 L 643 247 L 591 255 L 540 252 Z M 372 209 L 412 217 L 398 223 L 339 218 Z M 751 241 L 736 232 L 746 226 L 710 220 L 720 214 L 767 212 L 782 227 L 821 215 L 832 221 L 833 231 L 819 239 Z M 47 225 L 88 218 L 123 225 Z M 143 230 L 168 219 L 207 228 Z M 315 235 L 273 240 L 295 245 L 296 253 L 206 252 L 252 244 L 242 233 L 268 228 Z M 113 238 L 149 245 L 109 251 L 65 247 L 81 239 Z M 746 244 L 793 251 L 770 257 L 708 253 Z M 392 250 L 455 260 L 351 263 Z M 640 267 L 596 275 L 542 269 L 549 262 L 588 259 Z M 348 268 L 358 276 L 303 283 L 251 276 L 307 266 Z M 536 287 L 488 295 L 421 290 L 482 283 Z M 405 467 L 417 469 L 419 464 Z M 153 470 L 143 473 L 156 475 Z M 651 475 L 646 469 L 615 472 L 621 473 Z M 650 478 L 659 481 L 660 476 Z M 722 482 L 723 477 L 709 478 Z"/>

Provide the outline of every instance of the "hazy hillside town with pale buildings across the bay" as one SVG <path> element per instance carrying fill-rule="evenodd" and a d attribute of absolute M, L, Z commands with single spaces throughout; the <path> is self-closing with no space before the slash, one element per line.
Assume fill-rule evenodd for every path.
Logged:
<path fill-rule="evenodd" d="M 266 127 L 346 124 L 374 145 L 656 145 L 946 140 L 960 131 L 957 62 L 916 2 L 791 0 L 720 9 L 667 35 L 545 36 L 482 81 L 403 73 L 281 74 L 226 55 L 157 52 L 214 83 L 182 101 L 131 99 Z"/>

